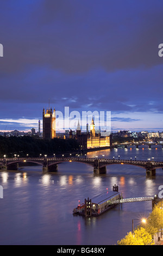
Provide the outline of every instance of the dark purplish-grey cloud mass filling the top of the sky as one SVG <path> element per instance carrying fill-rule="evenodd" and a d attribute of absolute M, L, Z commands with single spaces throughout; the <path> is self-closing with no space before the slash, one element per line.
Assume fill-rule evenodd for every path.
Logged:
<path fill-rule="evenodd" d="M 162 63 L 160 1 L 15 1 L 11 7 L 6 2 L 1 9 L 3 71 L 35 64 L 81 73 Z"/>

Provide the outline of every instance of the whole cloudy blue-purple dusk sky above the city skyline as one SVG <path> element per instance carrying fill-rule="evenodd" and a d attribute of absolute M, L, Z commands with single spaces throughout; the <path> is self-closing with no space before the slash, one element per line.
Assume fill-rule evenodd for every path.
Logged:
<path fill-rule="evenodd" d="M 1 0 L 0 130 L 42 109 L 111 111 L 112 131 L 163 131 L 163 2 Z"/>

